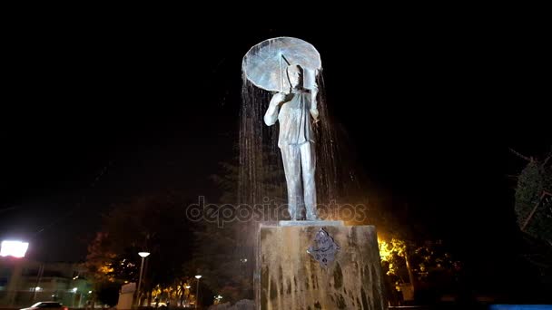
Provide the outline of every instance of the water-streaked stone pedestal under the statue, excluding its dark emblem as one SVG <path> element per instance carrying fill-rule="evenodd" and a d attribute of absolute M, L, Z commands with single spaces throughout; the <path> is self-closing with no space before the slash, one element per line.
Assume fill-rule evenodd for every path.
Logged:
<path fill-rule="evenodd" d="M 317 247 L 320 228 L 340 247 L 327 267 L 307 252 Z M 261 225 L 258 256 L 258 309 L 387 309 L 373 226 L 323 221 Z"/>

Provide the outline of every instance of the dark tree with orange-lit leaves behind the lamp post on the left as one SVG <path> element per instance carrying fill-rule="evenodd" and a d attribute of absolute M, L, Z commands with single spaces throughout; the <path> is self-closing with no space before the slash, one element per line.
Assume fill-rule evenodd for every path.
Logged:
<path fill-rule="evenodd" d="M 186 204 L 177 195 L 145 196 L 116 205 L 104 216 L 101 230 L 88 247 L 86 266 L 97 286 L 137 282 L 140 251 L 146 258 L 143 289 L 172 286 L 182 276 L 182 266 L 192 255 Z"/>

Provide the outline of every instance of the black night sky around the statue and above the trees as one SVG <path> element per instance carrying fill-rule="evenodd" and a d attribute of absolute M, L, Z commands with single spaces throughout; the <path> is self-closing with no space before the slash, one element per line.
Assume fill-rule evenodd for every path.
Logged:
<path fill-rule="evenodd" d="M 517 263 L 508 175 L 524 164 L 508 148 L 552 143 L 539 27 L 363 29 L 18 26 L 4 47 L 0 237 L 84 259 L 113 203 L 216 197 L 209 176 L 237 155 L 242 56 L 286 35 L 319 50 L 344 144 L 389 208 L 408 204 L 413 223 L 500 281 Z"/>

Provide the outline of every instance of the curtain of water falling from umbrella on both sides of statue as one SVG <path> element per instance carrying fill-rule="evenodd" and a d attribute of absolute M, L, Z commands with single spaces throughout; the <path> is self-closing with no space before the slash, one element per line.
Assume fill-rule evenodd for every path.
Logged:
<path fill-rule="evenodd" d="M 326 105 L 322 74 L 319 85 L 320 121 L 314 126 L 317 153 L 316 181 L 320 205 L 338 200 L 340 192 L 340 160 L 338 141 Z M 266 126 L 263 116 L 269 107 L 271 92 L 254 86 L 243 75 L 240 127 L 240 203 L 261 204 L 286 201 L 286 185 L 278 149 L 278 123 Z M 281 218 L 283 219 L 283 218 Z"/>

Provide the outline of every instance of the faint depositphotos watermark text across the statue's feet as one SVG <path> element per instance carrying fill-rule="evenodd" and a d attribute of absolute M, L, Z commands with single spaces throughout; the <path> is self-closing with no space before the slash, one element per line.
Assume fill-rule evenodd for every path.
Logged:
<path fill-rule="evenodd" d="M 319 217 L 326 220 L 342 220 L 365 222 L 368 219 L 368 206 L 364 204 L 318 204 Z M 225 223 L 239 222 L 272 222 L 290 220 L 287 204 L 277 203 L 273 199 L 265 198 L 262 204 L 212 204 L 205 203 L 205 197 L 200 196 L 198 203 L 186 208 L 186 218 L 193 222 L 206 221 L 217 223 L 224 227 Z"/>

